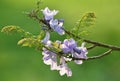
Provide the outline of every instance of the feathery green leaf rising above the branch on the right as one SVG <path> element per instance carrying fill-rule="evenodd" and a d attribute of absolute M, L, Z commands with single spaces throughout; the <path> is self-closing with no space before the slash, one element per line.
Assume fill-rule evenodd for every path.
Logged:
<path fill-rule="evenodd" d="M 72 29 L 72 33 L 77 36 L 88 35 L 88 27 L 95 24 L 96 16 L 94 13 L 86 13 L 83 17 L 76 23 L 76 26 Z"/>

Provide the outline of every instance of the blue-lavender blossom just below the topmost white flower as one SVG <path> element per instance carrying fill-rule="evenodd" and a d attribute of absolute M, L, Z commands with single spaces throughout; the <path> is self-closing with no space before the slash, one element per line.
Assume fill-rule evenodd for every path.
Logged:
<path fill-rule="evenodd" d="M 63 22 L 63 20 L 51 19 L 49 24 L 54 31 L 58 32 L 60 35 L 63 35 L 65 34 L 65 31 L 63 30 Z"/>

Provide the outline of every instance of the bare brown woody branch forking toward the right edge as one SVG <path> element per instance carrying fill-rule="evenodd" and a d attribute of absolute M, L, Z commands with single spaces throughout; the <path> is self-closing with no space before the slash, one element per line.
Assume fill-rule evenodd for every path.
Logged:
<path fill-rule="evenodd" d="M 45 24 L 46 26 L 49 27 L 49 29 L 51 29 L 49 23 L 47 23 L 44 19 L 40 19 L 37 15 L 30 16 L 30 17 L 36 19 L 39 23 Z M 81 38 L 79 36 L 76 36 L 75 34 L 73 34 L 70 31 L 67 31 L 65 29 L 63 29 L 63 30 L 65 31 L 66 34 L 71 35 L 73 38 L 83 39 L 83 38 Z M 120 51 L 120 47 L 118 47 L 118 46 L 108 45 L 108 44 L 104 44 L 104 43 L 101 43 L 101 42 L 96 42 L 96 41 L 92 41 L 92 40 L 88 40 L 88 39 L 83 39 L 83 41 L 92 44 L 92 46 L 87 48 L 88 50 L 93 49 L 96 46 L 108 48 L 109 50 L 104 52 L 104 53 L 102 53 L 102 54 L 100 54 L 100 55 L 88 57 L 87 59 L 85 59 L 85 58 L 74 58 L 74 57 L 69 57 L 69 58 L 72 58 L 72 60 L 93 60 L 93 59 L 102 58 L 102 57 L 110 54 L 112 51 Z"/>

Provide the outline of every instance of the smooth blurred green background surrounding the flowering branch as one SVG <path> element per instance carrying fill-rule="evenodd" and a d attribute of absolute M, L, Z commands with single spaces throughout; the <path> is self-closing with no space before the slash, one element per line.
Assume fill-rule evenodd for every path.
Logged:
<path fill-rule="evenodd" d="M 17 25 L 39 33 L 39 24 L 23 12 L 36 7 L 36 0 L 0 0 L 0 30 L 6 25 Z M 64 18 L 66 29 L 86 12 L 95 12 L 96 24 L 87 38 L 120 46 L 120 0 L 44 0 L 41 8 L 59 10 L 56 18 Z M 73 76 L 61 77 L 42 62 L 41 52 L 34 48 L 17 46 L 21 37 L 0 32 L 0 81 L 120 81 L 120 52 L 82 65 L 70 63 Z M 56 39 L 53 36 L 53 39 Z M 96 48 L 89 56 L 100 54 Z"/>

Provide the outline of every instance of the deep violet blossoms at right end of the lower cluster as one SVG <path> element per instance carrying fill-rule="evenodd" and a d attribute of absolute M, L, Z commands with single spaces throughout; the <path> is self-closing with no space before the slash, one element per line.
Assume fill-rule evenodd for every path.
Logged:
<path fill-rule="evenodd" d="M 84 47 L 85 43 L 82 43 L 81 47 L 77 46 L 74 39 L 65 39 L 62 44 L 62 50 L 64 53 L 70 53 L 72 57 L 87 59 L 87 49 Z M 76 64 L 82 64 L 82 60 L 74 60 Z"/>

